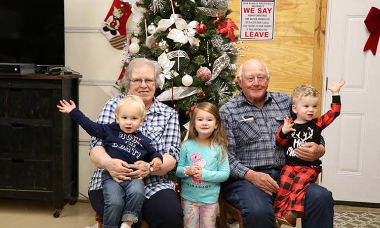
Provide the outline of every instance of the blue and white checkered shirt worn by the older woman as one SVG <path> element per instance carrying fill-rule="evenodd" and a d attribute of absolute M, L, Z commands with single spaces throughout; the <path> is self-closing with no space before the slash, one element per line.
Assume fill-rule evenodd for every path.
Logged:
<path fill-rule="evenodd" d="M 113 97 L 104 105 L 97 123 L 109 124 L 115 122 L 115 110 L 118 102 L 123 99 L 125 94 Z M 178 161 L 180 149 L 180 130 L 177 112 L 169 106 L 154 100 L 153 105 L 145 113 L 145 121 L 139 126 L 138 131 L 150 138 L 151 146 L 161 154 L 169 154 Z M 94 146 L 102 145 L 102 142 L 91 138 L 90 149 Z M 89 191 L 102 188 L 101 172 L 103 169 L 97 168 L 91 177 Z M 149 198 L 158 191 L 166 188 L 174 189 L 173 181 L 168 176 L 147 176 L 144 178 L 145 197 Z"/>

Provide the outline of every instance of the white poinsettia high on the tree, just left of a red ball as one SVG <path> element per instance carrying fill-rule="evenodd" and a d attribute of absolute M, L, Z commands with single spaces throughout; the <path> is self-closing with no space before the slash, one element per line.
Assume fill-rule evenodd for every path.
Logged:
<path fill-rule="evenodd" d="M 191 21 L 187 24 L 184 19 L 177 18 L 175 19 L 176 28 L 170 30 L 167 37 L 177 43 L 186 44 L 188 42 L 192 46 L 199 46 L 199 40 L 194 37 L 197 33 L 195 28 L 198 24 L 198 21 Z"/>

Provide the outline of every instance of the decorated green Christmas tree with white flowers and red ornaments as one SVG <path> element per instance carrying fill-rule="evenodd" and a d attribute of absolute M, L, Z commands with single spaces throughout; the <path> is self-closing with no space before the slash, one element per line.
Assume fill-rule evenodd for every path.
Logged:
<path fill-rule="evenodd" d="M 126 45 L 125 59 L 144 57 L 161 68 L 156 97 L 178 110 L 181 124 L 196 103 L 220 107 L 238 90 L 235 23 L 225 0 L 130 0 L 139 43 Z"/>

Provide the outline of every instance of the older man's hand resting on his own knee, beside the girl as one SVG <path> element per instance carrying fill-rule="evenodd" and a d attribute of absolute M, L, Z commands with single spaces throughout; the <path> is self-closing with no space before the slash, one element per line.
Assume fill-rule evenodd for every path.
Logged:
<path fill-rule="evenodd" d="M 267 173 L 249 170 L 245 174 L 244 179 L 253 183 L 256 187 L 260 188 L 264 193 L 270 196 L 276 193 L 279 189 L 277 182 Z"/>

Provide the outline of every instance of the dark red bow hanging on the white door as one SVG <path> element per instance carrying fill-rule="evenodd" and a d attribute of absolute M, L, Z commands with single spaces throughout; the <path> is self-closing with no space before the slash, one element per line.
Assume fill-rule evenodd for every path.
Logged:
<path fill-rule="evenodd" d="M 371 33 L 368 37 L 367 43 L 365 43 L 363 51 L 370 49 L 373 55 L 376 55 L 377 43 L 380 37 L 380 10 L 371 7 L 367 17 L 364 20 L 365 26 Z"/>

